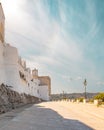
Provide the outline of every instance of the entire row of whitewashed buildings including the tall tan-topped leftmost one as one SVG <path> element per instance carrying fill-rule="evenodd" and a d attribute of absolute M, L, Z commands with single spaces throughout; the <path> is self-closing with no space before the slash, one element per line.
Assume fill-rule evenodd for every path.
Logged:
<path fill-rule="evenodd" d="M 11 89 L 32 96 L 49 100 L 49 84 L 40 84 L 38 71 L 26 67 L 26 61 L 18 55 L 17 48 L 5 43 L 5 16 L 0 4 L 0 84 L 11 86 Z M 36 73 L 37 72 L 37 73 Z"/>

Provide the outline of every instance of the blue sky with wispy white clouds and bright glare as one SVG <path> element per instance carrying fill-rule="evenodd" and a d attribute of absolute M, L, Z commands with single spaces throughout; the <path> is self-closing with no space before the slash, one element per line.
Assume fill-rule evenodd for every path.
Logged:
<path fill-rule="evenodd" d="M 5 41 L 52 93 L 104 92 L 104 0 L 1 0 Z"/>

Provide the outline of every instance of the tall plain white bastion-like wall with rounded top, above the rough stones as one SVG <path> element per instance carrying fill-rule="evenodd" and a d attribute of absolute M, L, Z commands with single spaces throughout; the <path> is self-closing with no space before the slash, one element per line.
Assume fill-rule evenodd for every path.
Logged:
<path fill-rule="evenodd" d="M 4 67 L 6 84 L 13 86 L 13 89 L 21 92 L 20 78 L 18 71 L 18 52 L 15 47 L 6 45 L 4 49 Z"/>

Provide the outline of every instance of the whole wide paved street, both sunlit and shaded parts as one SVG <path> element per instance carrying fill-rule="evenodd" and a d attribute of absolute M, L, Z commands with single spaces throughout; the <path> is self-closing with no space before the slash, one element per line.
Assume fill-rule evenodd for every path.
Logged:
<path fill-rule="evenodd" d="M 104 108 L 69 102 L 35 104 L 0 115 L 0 130 L 104 130 Z"/>

